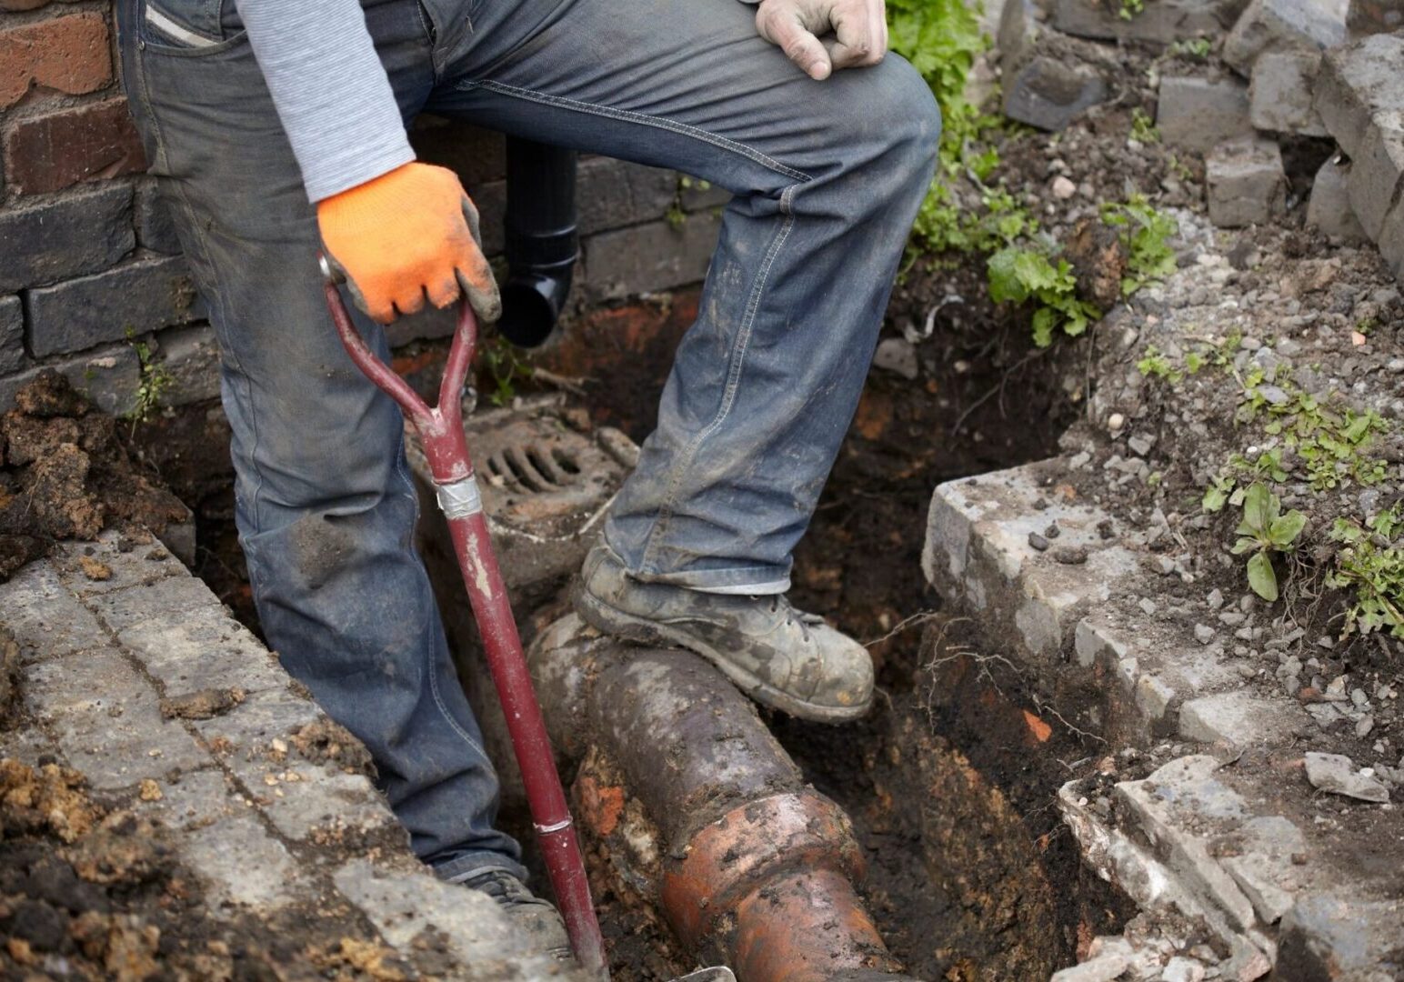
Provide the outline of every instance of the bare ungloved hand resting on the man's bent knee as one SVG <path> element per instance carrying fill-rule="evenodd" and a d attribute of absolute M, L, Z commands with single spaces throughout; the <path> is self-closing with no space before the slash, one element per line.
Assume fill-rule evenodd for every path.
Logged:
<path fill-rule="evenodd" d="M 887 53 L 883 0 L 761 0 L 755 30 L 814 80 Z"/>

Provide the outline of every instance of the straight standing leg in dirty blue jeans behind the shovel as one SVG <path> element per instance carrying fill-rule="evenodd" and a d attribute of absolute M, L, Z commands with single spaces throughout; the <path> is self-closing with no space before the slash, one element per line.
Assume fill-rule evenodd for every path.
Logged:
<path fill-rule="evenodd" d="M 517 843 L 493 829 L 497 777 L 414 552 L 400 413 L 327 315 L 313 211 L 253 52 L 219 24 L 219 4 L 161 6 L 216 41 L 195 46 L 150 31 L 138 0 L 118 7 L 124 83 L 219 336 L 236 517 L 264 631 L 369 747 L 420 857 L 445 877 L 524 875 Z M 413 114 L 432 86 L 418 6 L 368 15 Z M 386 354 L 383 332 L 358 325 Z"/>

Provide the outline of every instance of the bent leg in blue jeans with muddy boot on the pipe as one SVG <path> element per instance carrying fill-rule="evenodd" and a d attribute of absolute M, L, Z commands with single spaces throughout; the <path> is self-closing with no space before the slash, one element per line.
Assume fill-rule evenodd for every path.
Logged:
<path fill-rule="evenodd" d="M 792 712 L 856 715 L 855 700 L 866 698 L 858 688 L 870 690 L 862 649 L 821 641 L 814 657 L 828 662 L 806 655 L 806 665 L 776 667 L 786 645 L 807 645 L 821 628 L 786 620 L 788 608 L 695 591 L 789 586 L 790 554 L 858 405 L 931 180 L 935 101 L 896 56 L 807 79 L 757 37 L 754 7 L 736 0 L 646 0 L 628 13 L 564 0 L 503 51 L 496 18 L 511 21 L 518 6 L 532 3 L 484 6 L 476 34 L 445 60 L 431 111 L 677 167 L 736 195 L 657 430 L 605 530 L 616 558 L 587 563 L 587 601 L 628 607 L 600 624 L 621 631 L 650 618 L 699 624 L 709 615 L 698 607 L 712 604 L 724 634 L 760 611 L 754 629 L 741 629 L 789 641 L 760 649 L 737 680 Z M 720 653 L 727 639 L 705 646 Z M 862 672 L 858 659 L 865 681 L 824 690 L 821 676 Z"/>

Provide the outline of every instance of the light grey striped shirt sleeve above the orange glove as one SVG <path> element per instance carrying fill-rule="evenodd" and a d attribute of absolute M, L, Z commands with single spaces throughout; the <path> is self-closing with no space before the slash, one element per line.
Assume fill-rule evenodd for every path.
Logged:
<path fill-rule="evenodd" d="M 358 0 L 237 0 L 313 202 L 414 160 Z"/>

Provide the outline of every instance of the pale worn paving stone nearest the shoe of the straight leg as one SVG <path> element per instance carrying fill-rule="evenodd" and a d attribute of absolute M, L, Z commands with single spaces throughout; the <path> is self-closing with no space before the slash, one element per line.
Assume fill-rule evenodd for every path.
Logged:
<path fill-rule="evenodd" d="M 526 934 L 487 895 L 441 882 L 424 867 L 378 868 L 357 858 L 337 870 L 333 882 L 400 951 L 432 930 L 482 978 L 548 978 L 559 971 L 532 951 Z"/>

